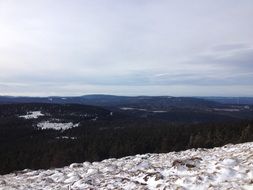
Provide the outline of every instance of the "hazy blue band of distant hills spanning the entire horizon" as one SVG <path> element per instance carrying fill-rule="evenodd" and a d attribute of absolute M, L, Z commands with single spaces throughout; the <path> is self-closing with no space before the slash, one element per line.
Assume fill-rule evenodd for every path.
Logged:
<path fill-rule="evenodd" d="M 223 104 L 253 105 L 253 97 L 173 97 L 173 96 L 115 96 L 91 94 L 83 96 L 0 96 L 0 104 L 10 103 L 53 103 L 53 104 L 85 104 L 103 107 L 142 107 L 145 109 L 207 108 L 224 107 Z M 144 106 L 144 107 L 143 107 Z"/>

